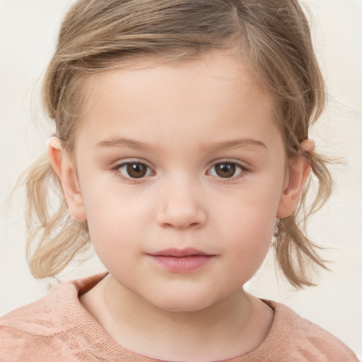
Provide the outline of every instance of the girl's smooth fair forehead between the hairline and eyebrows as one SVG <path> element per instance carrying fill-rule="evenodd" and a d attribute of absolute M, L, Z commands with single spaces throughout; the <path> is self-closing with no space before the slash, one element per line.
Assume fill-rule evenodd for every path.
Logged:
<path fill-rule="evenodd" d="M 167 139 L 169 145 L 222 141 L 233 138 L 235 128 L 269 142 L 279 133 L 273 98 L 230 54 L 167 64 L 153 59 L 103 71 L 88 77 L 85 91 L 81 134 L 93 143 L 121 134 L 146 142 Z"/>

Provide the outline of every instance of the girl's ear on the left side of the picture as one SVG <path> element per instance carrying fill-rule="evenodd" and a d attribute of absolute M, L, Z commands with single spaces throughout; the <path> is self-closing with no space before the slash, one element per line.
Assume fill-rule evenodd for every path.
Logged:
<path fill-rule="evenodd" d="M 58 137 L 54 136 L 49 138 L 47 142 L 47 153 L 54 172 L 62 183 L 64 197 L 71 216 L 78 221 L 86 220 L 86 209 L 83 204 L 76 167 L 74 162 L 67 156 L 66 151 L 62 147 L 62 142 Z"/>

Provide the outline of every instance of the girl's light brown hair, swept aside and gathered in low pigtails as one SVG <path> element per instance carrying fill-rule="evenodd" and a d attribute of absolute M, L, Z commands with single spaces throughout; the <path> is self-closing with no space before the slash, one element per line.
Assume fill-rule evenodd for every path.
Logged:
<path fill-rule="evenodd" d="M 297 0 L 76 1 L 66 13 L 45 74 L 47 115 L 71 153 L 83 121 L 82 87 L 89 74 L 136 59 L 172 62 L 214 49 L 235 50 L 249 64 L 276 99 L 287 155 L 312 165 L 318 183 L 313 205 L 305 209 L 306 185 L 296 212 L 276 221 L 273 245 L 288 281 L 297 288 L 313 285 L 310 266 L 325 264 L 301 229 L 329 196 L 332 180 L 325 160 L 300 146 L 325 107 L 325 86 Z M 46 156 L 30 167 L 26 185 L 30 270 L 37 278 L 56 276 L 89 245 L 88 227 L 71 218 Z"/>

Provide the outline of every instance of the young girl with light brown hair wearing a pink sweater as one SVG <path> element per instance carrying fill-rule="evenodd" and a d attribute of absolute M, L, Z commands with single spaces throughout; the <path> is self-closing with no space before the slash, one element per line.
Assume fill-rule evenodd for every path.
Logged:
<path fill-rule="evenodd" d="M 108 272 L 2 317 L 0 361 L 357 361 L 243 290 L 271 240 L 293 286 L 325 267 L 299 226 L 331 187 L 308 139 L 323 89 L 297 1 L 77 1 L 44 81 L 57 133 L 28 172 L 28 253 L 45 278 L 92 244 Z"/>

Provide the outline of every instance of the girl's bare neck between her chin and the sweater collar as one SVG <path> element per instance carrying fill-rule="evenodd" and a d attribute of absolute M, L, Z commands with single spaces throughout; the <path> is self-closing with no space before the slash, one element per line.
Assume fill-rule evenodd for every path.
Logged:
<path fill-rule="evenodd" d="M 264 340 L 272 322 L 269 307 L 241 288 L 192 312 L 160 309 L 112 276 L 87 294 L 83 305 L 113 339 L 124 348 L 163 361 L 215 361 L 245 354 Z"/>

